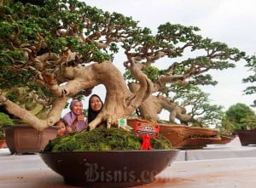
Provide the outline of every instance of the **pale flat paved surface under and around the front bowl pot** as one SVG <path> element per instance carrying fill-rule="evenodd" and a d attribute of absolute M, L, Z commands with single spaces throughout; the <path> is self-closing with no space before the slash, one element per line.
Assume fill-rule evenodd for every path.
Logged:
<path fill-rule="evenodd" d="M 254 188 L 256 147 L 244 147 L 238 141 L 234 140 L 229 145 L 210 145 L 203 150 L 182 151 L 180 158 L 157 175 L 153 183 L 137 187 Z M 200 159 L 192 157 L 189 161 L 183 160 L 183 156 L 190 155 L 191 158 L 191 152 L 196 157 L 201 156 Z M 224 152 L 226 157 L 222 155 Z M 38 154 L 10 155 L 7 148 L 0 149 L 0 168 L 0 188 L 73 187 L 66 185 L 62 177 L 48 168 Z"/>

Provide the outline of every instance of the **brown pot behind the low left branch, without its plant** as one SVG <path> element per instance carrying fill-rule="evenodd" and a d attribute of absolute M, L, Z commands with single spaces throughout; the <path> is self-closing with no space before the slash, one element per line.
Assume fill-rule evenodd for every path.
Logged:
<path fill-rule="evenodd" d="M 57 130 L 57 127 L 49 127 L 38 131 L 29 125 L 14 125 L 5 128 L 6 145 L 11 154 L 42 151 L 49 140 L 55 139 Z"/>

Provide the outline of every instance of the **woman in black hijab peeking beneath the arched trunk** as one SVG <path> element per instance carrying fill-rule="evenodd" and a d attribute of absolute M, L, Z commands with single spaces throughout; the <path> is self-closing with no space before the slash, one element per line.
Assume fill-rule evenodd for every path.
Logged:
<path fill-rule="evenodd" d="M 92 122 L 102 111 L 103 102 L 97 94 L 92 94 L 89 99 L 87 124 Z"/>

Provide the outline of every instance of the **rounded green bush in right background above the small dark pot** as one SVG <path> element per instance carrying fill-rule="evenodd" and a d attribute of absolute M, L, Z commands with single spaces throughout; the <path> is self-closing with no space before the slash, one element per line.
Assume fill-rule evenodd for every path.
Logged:
<path fill-rule="evenodd" d="M 255 113 L 247 105 L 237 103 L 231 105 L 230 108 L 225 111 L 227 119 L 234 125 L 235 130 L 247 129 L 246 122 L 254 120 Z"/>

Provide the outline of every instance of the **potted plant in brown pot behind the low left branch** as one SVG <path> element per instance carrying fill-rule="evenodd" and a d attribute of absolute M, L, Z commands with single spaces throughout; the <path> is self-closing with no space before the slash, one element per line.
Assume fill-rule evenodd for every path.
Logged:
<path fill-rule="evenodd" d="M 26 109 L 26 111 L 29 111 L 32 115 L 36 117 L 44 117 L 46 113 L 44 105 L 40 105 L 29 98 L 27 96 L 29 93 L 27 90 L 28 88 L 26 87 L 20 87 L 5 89 L 3 92 L 14 99 L 17 105 Z M 48 144 L 49 140 L 56 137 L 57 127 L 49 127 L 45 128 L 43 131 L 38 131 L 37 129 L 32 128 L 26 121 L 9 114 L 9 112 L 5 110 L 4 105 L 1 106 L 0 111 L 8 114 L 12 120 L 4 125 L 6 127 L 4 128 L 6 145 L 11 154 L 41 151 L 44 149 L 44 146 Z M 12 126 L 6 126 L 10 124 Z"/>

